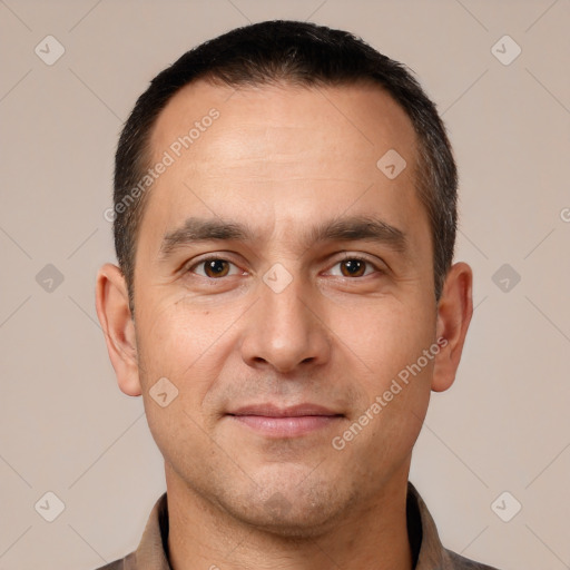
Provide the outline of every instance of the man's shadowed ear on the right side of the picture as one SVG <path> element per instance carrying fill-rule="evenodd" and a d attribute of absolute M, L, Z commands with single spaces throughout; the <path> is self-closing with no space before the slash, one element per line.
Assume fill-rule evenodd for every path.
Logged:
<path fill-rule="evenodd" d="M 469 323 L 473 315 L 473 273 L 466 263 L 456 263 L 448 272 L 438 303 L 435 356 L 432 390 L 443 392 L 455 380 Z"/>

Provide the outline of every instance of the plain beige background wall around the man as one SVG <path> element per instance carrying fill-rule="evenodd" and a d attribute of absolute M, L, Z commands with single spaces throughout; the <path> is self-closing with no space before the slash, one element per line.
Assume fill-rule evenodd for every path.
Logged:
<path fill-rule="evenodd" d="M 0 570 L 89 570 L 138 543 L 161 458 L 141 400 L 116 386 L 94 303 L 115 258 L 102 213 L 117 136 L 163 67 L 275 18 L 354 31 L 416 71 L 443 112 L 476 309 L 411 479 L 449 548 L 504 570 L 570 568 L 568 0 L 0 0 Z M 48 35 L 66 50 L 52 66 L 35 53 Z M 504 35 L 522 48 L 508 66 L 491 50 Z M 36 278 L 47 264 L 63 276 L 51 292 Z M 511 275 L 493 281 L 503 264 Z M 35 510 L 48 491 L 65 504 L 53 522 Z M 491 508 L 504 491 L 503 517 L 522 504 L 510 522 Z"/>

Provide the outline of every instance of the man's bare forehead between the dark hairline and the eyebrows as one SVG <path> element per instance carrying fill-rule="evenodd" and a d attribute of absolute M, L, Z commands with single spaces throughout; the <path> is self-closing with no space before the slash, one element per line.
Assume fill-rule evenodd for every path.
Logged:
<path fill-rule="evenodd" d="M 380 208 L 400 227 L 417 215 L 416 136 L 377 86 L 235 89 L 200 80 L 170 99 L 150 142 L 151 164 L 166 155 L 170 163 L 142 220 L 151 218 L 156 243 L 195 215 L 254 220 L 267 235 L 279 223 L 306 228 L 327 212 Z M 393 163 L 393 153 L 406 166 L 391 179 L 377 164 L 386 154 Z"/>

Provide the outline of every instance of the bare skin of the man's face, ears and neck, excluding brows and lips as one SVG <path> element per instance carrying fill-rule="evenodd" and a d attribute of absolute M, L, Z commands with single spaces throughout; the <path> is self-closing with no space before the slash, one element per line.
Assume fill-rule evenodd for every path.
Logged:
<path fill-rule="evenodd" d="M 435 302 L 433 245 L 415 187 L 416 138 L 371 86 L 227 87 L 198 81 L 153 132 L 158 160 L 215 107 L 219 118 L 154 183 L 138 236 L 135 313 L 118 267 L 97 278 L 97 312 L 118 384 L 142 395 L 165 459 L 175 570 L 412 567 L 405 522 L 412 448 L 431 391 L 454 381 L 472 314 L 458 263 Z M 407 163 L 393 180 L 386 150 Z M 161 256 L 188 217 L 247 224 L 255 239 L 190 242 Z M 405 248 L 367 239 L 307 242 L 332 218 L 368 216 Z M 224 276 L 198 265 L 220 259 Z M 346 272 L 343 259 L 365 257 Z M 370 262 L 370 263 L 368 263 Z M 281 264 L 279 293 L 263 281 Z M 342 435 L 438 338 L 445 347 L 346 445 Z M 149 390 L 167 377 L 166 407 Z M 341 414 L 318 430 L 269 436 L 238 406 L 303 402 Z M 199 521 L 197 523 L 197 521 Z"/>

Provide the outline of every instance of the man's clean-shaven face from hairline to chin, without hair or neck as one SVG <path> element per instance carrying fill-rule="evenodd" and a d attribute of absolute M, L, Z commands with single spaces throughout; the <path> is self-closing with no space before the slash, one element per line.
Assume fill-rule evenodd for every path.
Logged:
<path fill-rule="evenodd" d="M 169 489 L 284 533 L 364 511 L 406 481 L 448 350 L 410 120 L 376 87 L 197 82 L 151 147 L 173 161 L 141 220 L 136 365 L 118 376 Z M 400 174 L 395 155 L 376 165 L 391 149 Z"/>

